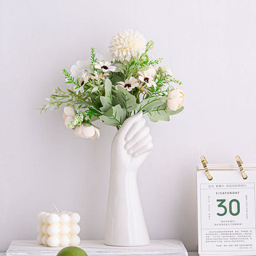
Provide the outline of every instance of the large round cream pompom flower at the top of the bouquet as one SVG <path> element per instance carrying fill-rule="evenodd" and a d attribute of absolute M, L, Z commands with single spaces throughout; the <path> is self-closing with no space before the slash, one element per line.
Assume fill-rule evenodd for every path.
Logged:
<path fill-rule="evenodd" d="M 146 49 L 146 39 L 143 34 L 132 30 L 118 31 L 110 42 L 110 54 L 114 60 L 130 61 L 142 54 Z"/>

